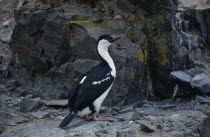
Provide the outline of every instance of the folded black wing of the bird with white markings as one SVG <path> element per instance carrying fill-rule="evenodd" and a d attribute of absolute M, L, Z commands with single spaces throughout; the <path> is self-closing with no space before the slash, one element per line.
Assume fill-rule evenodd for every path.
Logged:
<path fill-rule="evenodd" d="M 100 64 L 81 76 L 72 87 L 74 91 L 69 105 L 77 110 L 90 106 L 113 83 L 114 77 L 110 72 L 109 66 Z M 84 81 L 80 83 L 85 76 Z"/>

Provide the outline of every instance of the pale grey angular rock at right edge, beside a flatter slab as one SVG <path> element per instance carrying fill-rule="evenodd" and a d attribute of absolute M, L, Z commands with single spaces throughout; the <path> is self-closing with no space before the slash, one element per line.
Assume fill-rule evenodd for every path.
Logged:
<path fill-rule="evenodd" d="M 202 93 L 210 93 L 210 75 L 204 73 L 196 75 L 191 82 L 192 87 L 196 87 Z"/>

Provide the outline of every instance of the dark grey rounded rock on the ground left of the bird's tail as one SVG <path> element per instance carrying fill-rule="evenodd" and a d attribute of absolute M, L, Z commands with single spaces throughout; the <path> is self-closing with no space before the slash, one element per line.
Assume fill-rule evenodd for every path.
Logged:
<path fill-rule="evenodd" d="M 33 100 L 29 98 L 23 98 L 20 102 L 20 111 L 22 112 L 31 112 L 38 109 L 41 106 L 39 100 Z"/>

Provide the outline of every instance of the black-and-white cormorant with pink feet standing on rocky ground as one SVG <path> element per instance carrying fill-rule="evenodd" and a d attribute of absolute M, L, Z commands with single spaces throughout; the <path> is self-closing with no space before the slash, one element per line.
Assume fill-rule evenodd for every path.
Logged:
<path fill-rule="evenodd" d="M 73 84 L 68 99 L 69 114 L 59 127 L 66 127 L 75 116 L 86 120 L 106 120 L 98 117 L 102 102 L 109 93 L 116 78 L 116 68 L 108 48 L 121 36 L 102 35 L 97 41 L 97 52 L 101 63 L 81 75 Z"/>

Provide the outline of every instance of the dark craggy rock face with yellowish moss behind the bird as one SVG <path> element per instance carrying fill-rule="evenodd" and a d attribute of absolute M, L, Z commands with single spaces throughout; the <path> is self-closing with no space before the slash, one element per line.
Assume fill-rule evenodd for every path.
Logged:
<path fill-rule="evenodd" d="M 194 75 L 184 70 L 210 70 L 209 9 L 183 5 L 189 4 L 182 0 L 22 3 L 15 10 L 10 72 L 43 98 L 67 98 L 74 80 L 100 63 L 98 37 L 116 34 L 123 39 L 110 48 L 117 78 L 107 105 L 172 97 L 177 84 L 180 90 L 207 93 L 208 84 L 200 81 L 209 76 L 197 76 L 192 82 Z"/>

